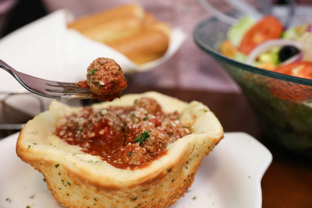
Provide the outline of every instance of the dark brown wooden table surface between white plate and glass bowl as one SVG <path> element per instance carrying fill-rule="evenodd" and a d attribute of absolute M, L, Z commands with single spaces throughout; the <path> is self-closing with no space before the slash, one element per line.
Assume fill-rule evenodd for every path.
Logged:
<path fill-rule="evenodd" d="M 312 161 L 295 157 L 266 140 L 261 134 L 255 113 L 243 95 L 135 86 L 130 87 L 128 92 L 142 93 L 149 90 L 188 102 L 200 101 L 216 114 L 225 132 L 246 132 L 271 151 L 273 161 L 261 182 L 263 208 L 312 208 Z"/>

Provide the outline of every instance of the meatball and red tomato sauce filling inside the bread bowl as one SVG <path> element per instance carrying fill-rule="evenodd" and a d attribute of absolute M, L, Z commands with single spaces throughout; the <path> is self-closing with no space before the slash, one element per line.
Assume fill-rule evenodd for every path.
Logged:
<path fill-rule="evenodd" d="M 57 126 L 55 134 L 114 167 L 146 167 L 165 155 L 170 143 L 190 132 L 178 122 L 177 112 L 150 114 L 146 108 L 153 106 L 146 106 L 146 102 L 144 107 L 135 105 L 140 102 L 132 107 L 84 108 L 67 116 L 66 123 Z"/>

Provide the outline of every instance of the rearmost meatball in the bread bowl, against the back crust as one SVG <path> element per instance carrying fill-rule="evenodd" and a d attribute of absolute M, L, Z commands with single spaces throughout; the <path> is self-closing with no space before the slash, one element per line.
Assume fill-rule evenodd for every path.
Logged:
<path fill-rule="evenodd" d="M 136 100 L 134 101 L 133 108 L 134 110 L 137 110 L 139 108 L 144 108 L 147 110 L 149 114 L 153 114 L 153 115 L 158 115 L 161 113 L 161 106 L 153 98 L 144 97 L 139 100 Z"/>

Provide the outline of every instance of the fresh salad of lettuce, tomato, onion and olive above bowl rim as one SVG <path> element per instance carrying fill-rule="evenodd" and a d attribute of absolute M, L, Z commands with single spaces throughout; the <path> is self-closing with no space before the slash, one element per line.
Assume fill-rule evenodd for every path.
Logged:
<path fill-rule="evenodd" d="M 312 25 L 284 29 L 273 16 L 242 17 L 227 31 L 220 52 L 258 68 L 312 79 Z"/>

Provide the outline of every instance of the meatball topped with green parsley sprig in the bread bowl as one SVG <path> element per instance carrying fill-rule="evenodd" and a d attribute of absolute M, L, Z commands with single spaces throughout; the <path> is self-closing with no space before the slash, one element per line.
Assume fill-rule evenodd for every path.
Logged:
<path fill-rule="evenodd" d="M 134 142 L 140 143 L 147 152 L 152 154 L 166 149 L 170 143 L 168 135 L 161 127 L 139 126 L 139 128 L 134 129 L 133 135 Z"/>

